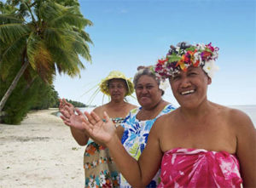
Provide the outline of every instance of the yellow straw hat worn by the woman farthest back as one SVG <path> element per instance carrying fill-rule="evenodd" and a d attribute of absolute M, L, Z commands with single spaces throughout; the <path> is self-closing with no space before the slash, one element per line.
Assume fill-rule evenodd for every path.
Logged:
<path fill-rule="evenodd" d="M 123 80 L 125 80 L 125 82 L 127 84 L 127 88 L 128 88 L 128 91 L 125 94 L 125 96 L 131 95 L 133 93 L 134 88 L 133 88 L 133 83 L 131 83 L 131 79 L 125 77 L 125 75 L 120 71 L 111 71 L 108 74 L 108 77 L 102 79 L 102 82 L 100 83 L 100 88 L 101 88 L 101 91 L 102 91 L 103 94 L 110 95 L 109 91 L 108 91 L 108 81 L 111 80 L 111 79 L 123 79 Z"/>

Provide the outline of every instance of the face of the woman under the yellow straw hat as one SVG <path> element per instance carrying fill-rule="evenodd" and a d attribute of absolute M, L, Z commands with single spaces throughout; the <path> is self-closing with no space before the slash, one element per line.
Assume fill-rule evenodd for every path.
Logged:
<path fill-rule="evenodd" d="M 111 100 L 124 100 L 127 93 L 127 85 L 123 79 L 112 79 L 108 81 L 108 90 Z"/>

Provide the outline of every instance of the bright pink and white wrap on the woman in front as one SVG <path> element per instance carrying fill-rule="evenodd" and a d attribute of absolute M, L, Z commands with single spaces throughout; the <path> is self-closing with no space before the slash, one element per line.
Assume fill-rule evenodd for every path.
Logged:
<path fill-rule="evenodd" d="M 241 187 L 239 162 L 221 151 L 176 148 L 166 151 L 158 187 Z"/>

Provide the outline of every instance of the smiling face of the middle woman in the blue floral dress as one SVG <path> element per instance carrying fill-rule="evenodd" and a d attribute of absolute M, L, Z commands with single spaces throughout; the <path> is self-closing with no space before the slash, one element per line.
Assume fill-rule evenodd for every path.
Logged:
<path fill-rule="evenodd" d="M 153 77 L 139 77 L 135 90 L 138 103 L 145 109 L 154 107 L 161 100 L 161 90 Z"/>

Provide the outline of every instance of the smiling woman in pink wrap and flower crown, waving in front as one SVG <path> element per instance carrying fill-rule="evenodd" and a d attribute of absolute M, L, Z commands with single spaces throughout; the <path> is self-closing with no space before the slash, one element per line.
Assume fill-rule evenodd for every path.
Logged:
<path fill-rule="evenodd" d="M 84 127 L 108 145 L 134 187 L 147 185 L 159 168 L 159 187 L 256 187 L 253 122 L 242 111 L 207 100 L 217 58 L 218 48 L 211 43 L 178 43 L 152 67 L 157 76 L 169 79 L 180 107 L 154 122 L 138 161 L 121 145 L 106 112 L 107 122 L 86 113 Z"/>

